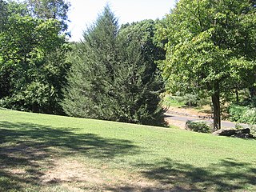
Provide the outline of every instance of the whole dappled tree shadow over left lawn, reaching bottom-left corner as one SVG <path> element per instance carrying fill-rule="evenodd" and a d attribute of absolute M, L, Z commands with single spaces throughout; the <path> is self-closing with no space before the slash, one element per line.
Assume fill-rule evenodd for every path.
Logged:
<path fill-rule="evenodd" d="M 0 122 L 0 191 L 40 186 L 43 169 L 54 166 L 54 158 L 79 154 L 110 160 L 138 151 L 129 140 L 76 134 L 72 128 Z"/>

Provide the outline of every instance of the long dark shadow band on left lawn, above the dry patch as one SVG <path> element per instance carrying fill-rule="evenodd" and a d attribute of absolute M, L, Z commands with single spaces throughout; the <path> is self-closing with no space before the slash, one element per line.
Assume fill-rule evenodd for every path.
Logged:
<path fill-rule="evenodd" d="M 129 140 L 102 138 L 96 134 L 75 134 L 71 128 L 54 129 L 51 126 L 10 122 L 0 122 L 1 127 L 3 129 L 0 130 L 0 144 L 14 142 L 17 145 L 13 150 L 26 146 L 50 152 L 48 147 L 53 146 L 60 147 L 67 154 L 75 151 L 90 158 L 114 158 L 118 154 L 138 152 L 137 147 Z M 6 150 L 8 151 L 1 148 L 0 152 Z"/>

